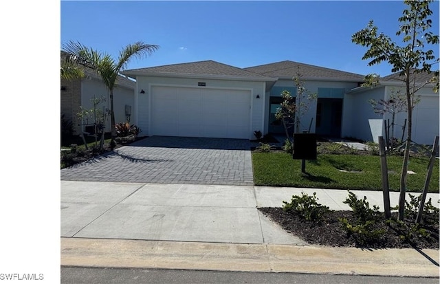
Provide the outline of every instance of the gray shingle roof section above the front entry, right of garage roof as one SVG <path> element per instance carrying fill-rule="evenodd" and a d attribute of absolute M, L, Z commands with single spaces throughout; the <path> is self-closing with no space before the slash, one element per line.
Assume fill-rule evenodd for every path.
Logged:
<path fill-rule="evenodd" d="M 247 67 L 244 69 L 250 72 L 262 74 L 264 76 L 292 78 L 298 73 L 298 67 L 300 68 L 299 72 L 303 78 L 335 79 L 353 82 L 362 82 L 364 80 L 364 76 L 360 74 L 343 72 L 336 69 L 329 69 L 294 61 L 281 61 L 277 63 Z"/>

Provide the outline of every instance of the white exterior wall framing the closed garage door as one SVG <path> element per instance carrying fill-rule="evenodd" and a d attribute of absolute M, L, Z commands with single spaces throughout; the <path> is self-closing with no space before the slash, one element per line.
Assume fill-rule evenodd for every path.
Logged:
<path fill-rule="evenodd" d="M 263 123 L 264 102 L 265 102 L 265 83 L 250 82 L 239 80 L 217 80 L 217 79 L 197 79 L 197 78 L 167 78 L 153 76 L 137 76 L 135 90 L 135 124 L 137 124 L 142 133 L 140 135 L 149 135 L 150 132 L 150 94 L 152 86 L 168 87 L 192 87 L 192 88 L 212 88 L 212 89 L 243 89 L 251 93 L 251 129 L 249 138 L 252 139 L 253 132 L 259 130 L 265 133 L 265 124 Z M 206 83 L 206 87 L 199 87 L 198 83 Z M 141 90 L 145 94 L 140 94 Z M 259 95 L 260 98 L 256 98 Z"/>

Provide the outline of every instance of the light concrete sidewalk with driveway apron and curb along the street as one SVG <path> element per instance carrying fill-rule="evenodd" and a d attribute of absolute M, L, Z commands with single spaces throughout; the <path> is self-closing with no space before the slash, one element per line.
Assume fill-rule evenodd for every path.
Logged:
<path fill-rule="evenodd" d="M 347 190 L 61 181 L 61 264 L 439 277 L 438 250 L 309 245 L 257 210 L 302 192 L 349 210 Z M 383 208 L 382 192 L 353 193 Z"/>

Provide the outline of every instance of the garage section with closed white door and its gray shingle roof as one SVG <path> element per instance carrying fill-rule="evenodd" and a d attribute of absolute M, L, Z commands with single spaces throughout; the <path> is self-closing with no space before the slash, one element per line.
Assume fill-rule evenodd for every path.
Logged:
<path fill-rule="evenodd" d="M 122 72 L 136 80 L 141 135 L 252 139 L 267 133 L 266 96 L 276 78 L 215 61 Z"/>

